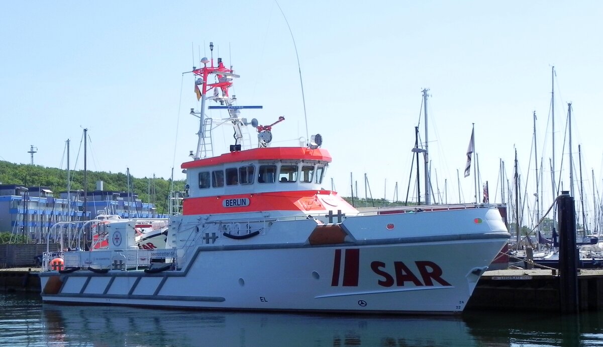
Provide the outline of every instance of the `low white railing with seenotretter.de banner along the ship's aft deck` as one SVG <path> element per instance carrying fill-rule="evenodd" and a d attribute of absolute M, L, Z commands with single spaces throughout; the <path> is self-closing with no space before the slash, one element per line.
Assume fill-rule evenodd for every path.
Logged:
<path fill-rule="evenodd" d="M 89 250 L 62 252 L 63 264 L 53 264 L 51 254 L 45 253 L 47 259 L 43 264 L 44 271 L 81 268 L 92 270 L 142 270 L 149 269 L 153 263 L 169 264 L 176 260 L 175 249 L 124 249 L 124 250 Z"/>

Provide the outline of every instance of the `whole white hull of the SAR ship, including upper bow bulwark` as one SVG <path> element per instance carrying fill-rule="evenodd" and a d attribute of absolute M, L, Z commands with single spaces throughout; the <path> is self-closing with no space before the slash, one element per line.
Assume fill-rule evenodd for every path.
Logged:
<path fill-rule="evenodd" d="M 42 288 L 53 277 L 52 281 L 60 279 L 61 285 L 56 294 L 43 290 L 42 297 L 47 302 L 220 310 L 459 313 L 481 273 L 508 240 L 508 233 L 490 228 L 464 234 L 433 229 L 434 235 L 426 237 L 423 231 L 423 236 L 417 237 L 410 232 L 412 228 L 380 231 L 376 218 L 396 224 L 406 221 L 412 227 L 431 214 L 443 217 L 443 221 L 452 217 L 462 220 L 469 212 L 483 214 L 488 209 L 468 211 L 348 218 L 343 225 L 349 222 L 358 229 L 355 235 L 352 232 L 356 241 L 350 245 L 271 243 L 271 238 L 277 241 L 291 235 L 270 231 L 247 240 L 221 237 L 179 256 L 177 261 L 183 264 L 179 269 L 160 273 L 45 272 L 40 276 Z M 359 228 L 355 221 L 370 223 L 373 230 Z M 309 232 L 302 232 L 302 227 L 309 222 L 297 221 L 300 230 L 296 234 L 302 236 L 298 241 L 308 238 Z M 296 222 L 285 222 L 285 230 L 292 230 L 290 223 Z M 366 232 L 374 240 L 361 238 Z M 388 238 L 381 234 L 388 234 Z M 394 235 L 399 237 L 392 238 Z"/>

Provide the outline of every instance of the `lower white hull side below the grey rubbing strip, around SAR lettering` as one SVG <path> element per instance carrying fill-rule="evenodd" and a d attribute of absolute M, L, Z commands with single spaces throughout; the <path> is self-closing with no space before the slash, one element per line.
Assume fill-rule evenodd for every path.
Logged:
<path fill-rule="evenodd" d="M 185 270 L 185 276 L 83 271 L 72 273 L 58 296 L 45 295 L 44 299 L 248 310 L 460 312 L 481 275 L 472 271 L 485 269 L 491 260 L 488 256 L 500 247 L 499 240 L 362 247 L 358 285 L 351 287 L 343 286 L 344 271 L 340 272 L 338 285 L 332 286 L 335 247 L 271 249 L 261 254 L 257 250 L 203 250 Z M 342 267 L 349 249 L 343 249 Z M 467 256 L 462 264 L 450 261 L 450 254 L 463 253 Z M 402 261 L 425 284 L 414 262 L 427 259 L 442 267 L 441 278 L 450 286 L 437 281 L 417 286 L 406 281 L 404 285 L 385 287 L 379 281 L 387 282 L 387 277 L 371 270 L 372 261 L 381 261 L 385 263 L 384 272 L 395 282 L 394 261 Z M 43 286 L 47 279 L 43 277 Z M 101 294 L 106 289 L 107 293 Z M 367 304 L 361 306 L 359 301 Z"/>

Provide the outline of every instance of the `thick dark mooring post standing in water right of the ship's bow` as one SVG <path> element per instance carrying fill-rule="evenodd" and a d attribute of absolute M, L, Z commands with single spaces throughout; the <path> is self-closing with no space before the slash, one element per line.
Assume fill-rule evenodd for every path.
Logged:
<path fill-rule="evenodd" d="M 578 313 L 578 249 L 574 199 L 562 191 L 559 210 L 559 293 L 561 313 Z"/>

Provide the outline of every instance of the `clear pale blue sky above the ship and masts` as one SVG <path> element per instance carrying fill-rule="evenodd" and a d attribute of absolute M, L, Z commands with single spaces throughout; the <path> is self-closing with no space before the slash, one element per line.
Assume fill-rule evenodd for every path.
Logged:
<path fill-rule="evenodd" d="M 182 179 L 180 163 L 188 161 L 197 143 L 196 118 L 188 113 L 200 106 L 192 76 L 182 72 L 190 71 L 194 61 L 200 65 L 210 41 L 216 46 L 214 57 L 223 57 L 241 75 L 233 87 L 239 104 L 264 106 L 243 116 L 260 124 L 285 116 L 274 127 L 276 144 L 296 144 L 306 136 L 297 58 L 276 2 L 207 4 L 3 3 L 0 159 L 27 163 L 34 145 L 36 164 L 65 167 L 66 139 L 72 141 L 73 163 L 81 129 L 87 127 L 90 170 L 125 172 L 129 167 L 135 177 L 167 178 L 175 167 L 175 178 Z M 480 177 L 489 181 L 490 196 L 500 200 L 500 192 L 494 192 L 499 161 L 505 161 L 512 177 L 514 148 L 520 174 L 534 176 L 534 110 L 538 156 L 545 163 L 551 158 L 554 65 L 557 166 L 566 103 L 572 101 L 575 167 L 580 144 L 591 205 L 591 170 L 603 190 L 603 2 L 279 4 L 297 43 L 309 133 L 321 133 L 333 156 L 326 188 L 332 177 L 336 190 L 349 196 L 352 173 L 364 197 L 366 173 L 373 197 L 392 199 L 397 182 L 403 200 L 421 89 L 429 88 L 432 180 L 437 173 L 440 191 L 446 180 L 447 200 L 458 202 L 458 169 L 461 200 L 473 200 L 473 171 L 463 178 L 463 170 L 475 123 Z M 422 119 L 420 127 L 422 133 Z M 545 173 L 550 175 L 548 164 Z M 532 177 L 528 189 L 533 182 Z M 551 201 L 548 190 L 545 205 Z"/>

